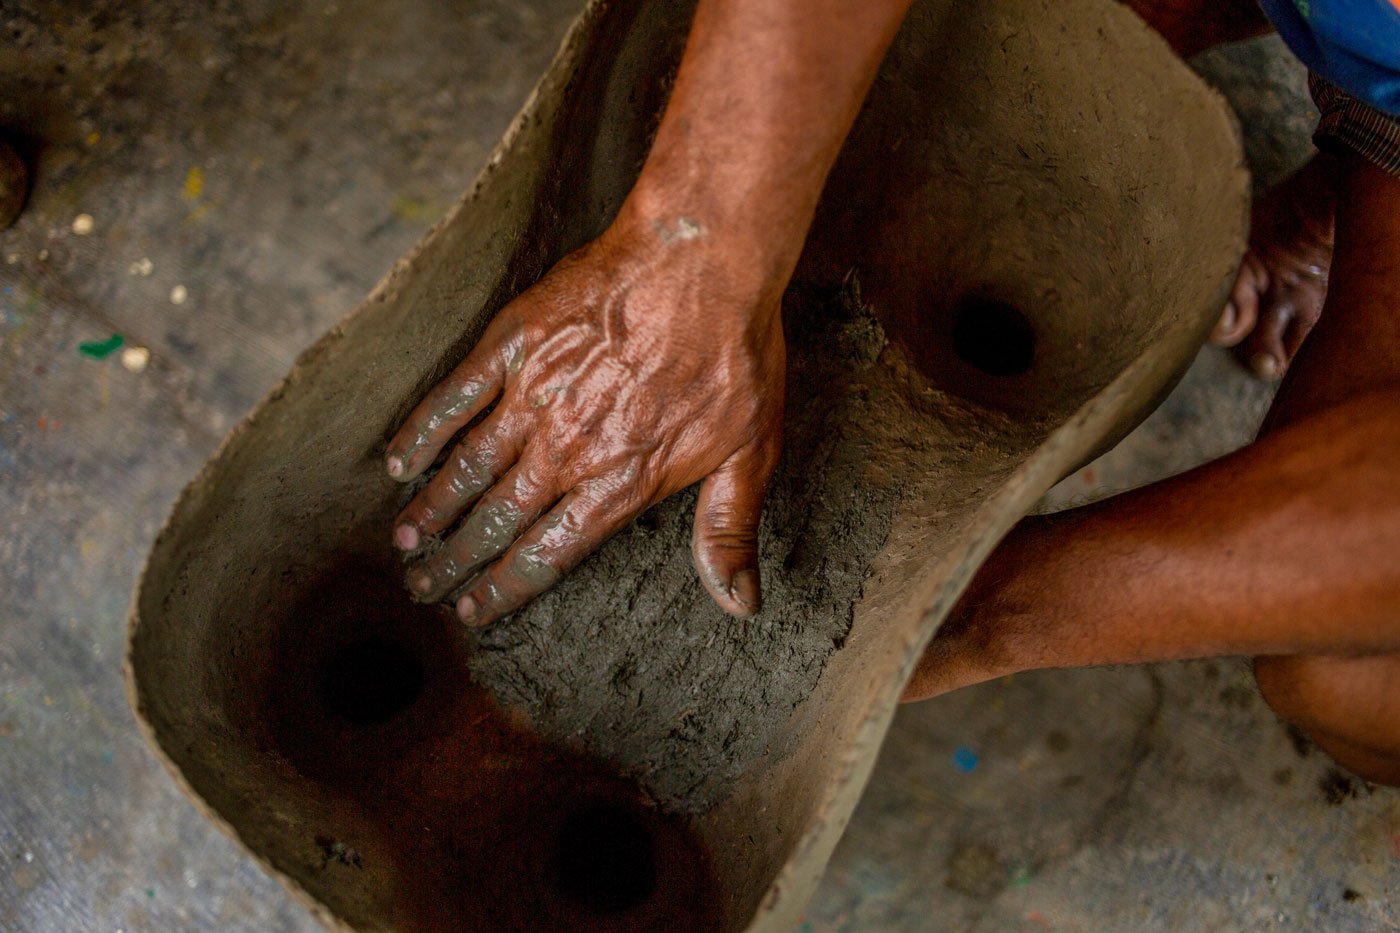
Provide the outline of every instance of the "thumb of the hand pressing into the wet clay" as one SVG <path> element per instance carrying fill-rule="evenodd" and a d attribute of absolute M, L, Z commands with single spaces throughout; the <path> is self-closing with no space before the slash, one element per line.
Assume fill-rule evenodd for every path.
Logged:
<path fill-rule="evenodd" d="M 732 615 L 753 615 L 763 605 L 759 523 L 777 466 L 773 447 L 743 447 L 700 483 L 690 549 L 710 595 Z"/>

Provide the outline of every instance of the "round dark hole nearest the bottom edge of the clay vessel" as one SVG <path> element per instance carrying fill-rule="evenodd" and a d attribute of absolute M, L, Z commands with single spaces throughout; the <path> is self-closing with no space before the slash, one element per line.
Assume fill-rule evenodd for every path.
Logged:
<path fill-rule="evenodd" d="M 559 832 L 559 885 L 598 912 L 627 911 L 657 890 L 657 853 L 638 815 L 599 804 L 570 817 Z"/>

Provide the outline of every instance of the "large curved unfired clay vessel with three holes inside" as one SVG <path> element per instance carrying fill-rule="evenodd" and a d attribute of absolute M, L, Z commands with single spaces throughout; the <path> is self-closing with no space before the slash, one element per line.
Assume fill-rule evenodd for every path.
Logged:
<path fill-rule="evenodd" d="M 652 509 L 480 632 L 413 602 L 384 444 L 608 224 L 686 3 L 595 1 L 462 202 L 185 490 L 129 679 L 196 803 L 328 923 L 788 930 L 923 646 L 997 539 L 1218 317 L 1224 102 L 1112 0 L 916 3 L 788 290 L 764 609 Z"/>

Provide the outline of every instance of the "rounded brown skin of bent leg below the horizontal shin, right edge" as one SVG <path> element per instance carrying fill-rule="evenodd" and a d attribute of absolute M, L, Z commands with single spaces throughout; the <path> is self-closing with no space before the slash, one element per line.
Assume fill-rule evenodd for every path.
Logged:
<path fill-rule="evenodd" d="M 1400 656 L 1257 657 L 1264 700 L 1337 763 L 1400 785 Z"/>

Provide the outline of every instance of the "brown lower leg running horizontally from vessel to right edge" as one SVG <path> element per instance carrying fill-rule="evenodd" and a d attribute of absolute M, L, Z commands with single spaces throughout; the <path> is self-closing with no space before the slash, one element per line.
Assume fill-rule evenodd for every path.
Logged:
<path fill-rule="evenodd" d="M 1400 649 L 1397 412 L 1394 389 L 1351 399 L 1190 474 L 1030 520 L 948 637 L 1008 671 Z"/>

